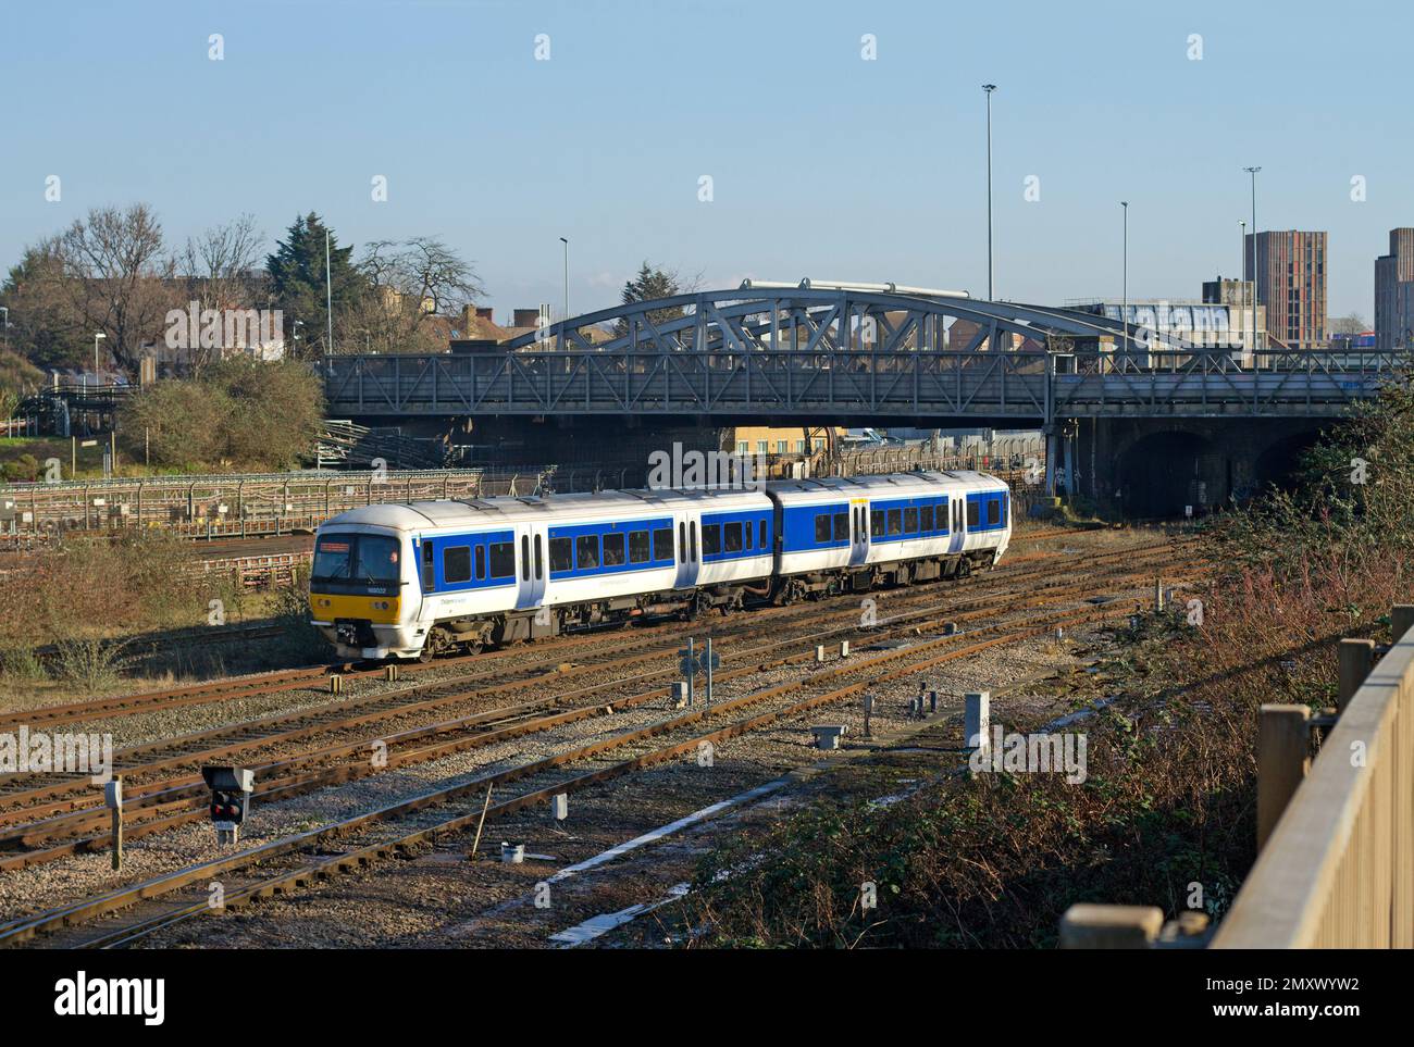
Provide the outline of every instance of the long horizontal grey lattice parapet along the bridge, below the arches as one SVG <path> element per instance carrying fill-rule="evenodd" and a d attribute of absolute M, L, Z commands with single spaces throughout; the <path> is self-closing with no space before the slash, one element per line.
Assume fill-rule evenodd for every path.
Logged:
<path fill-rule="evenodd" d="M 952 418 L 1335 415 L 1407 372 L 1406 353 L 1104 350 L 544 350 L 325 357 L 337 415 Z"/>

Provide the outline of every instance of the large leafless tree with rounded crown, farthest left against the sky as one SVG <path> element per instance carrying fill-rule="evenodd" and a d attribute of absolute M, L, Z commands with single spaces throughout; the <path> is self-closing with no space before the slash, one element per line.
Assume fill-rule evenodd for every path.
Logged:
<path fill-rule="evenodd" d="M 95 208 L 58 243 L 74 315 L 85 331 L 102 331 L 117 366 L 136 374 L 143 342 L 161 335 L 177 297 L 161 223 L 146 203 Z"/>

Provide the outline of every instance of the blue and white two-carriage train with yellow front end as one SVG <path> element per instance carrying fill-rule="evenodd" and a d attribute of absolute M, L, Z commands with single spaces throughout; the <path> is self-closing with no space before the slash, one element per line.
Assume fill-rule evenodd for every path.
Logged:
<path fill-rule="evenodd" d="M 310 613 L 341 657 L 427 660 L 964 576 L 1010 538 L 1010 490 L 978 472 L 380 504 L 320 527 Z"/>

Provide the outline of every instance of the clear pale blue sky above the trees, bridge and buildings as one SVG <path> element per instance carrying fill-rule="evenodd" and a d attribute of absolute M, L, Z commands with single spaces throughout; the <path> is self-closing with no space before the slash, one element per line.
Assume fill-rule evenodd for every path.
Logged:
<path fill-rule="evenodd" d="M 1260 226 L 1329 230 L 1331 312 L 1373 319 L 1374 256 L 1414 225 L 1411 10 L 14 3 L 0 264 L 90 206 L 147 201 L 177 243 L 240 212 L 273 243 L 311 209 L 355 246 L 441 236 L 475 261 L 498 319 L 559 305 L 560 236 L 574 312 L 612 304 L 642 259 L 707 287 L 814 276 L 981 294 L 991 81 L 998 297 L 1117 297 L 1120 199 L 1131 297 L 1198 297 L 1239 266 L 1241 168 L 1261 164 Z M 534 59 L 542 32 L 550 61 Z M 375 175 L 387 202 L 370 199 Z"/>

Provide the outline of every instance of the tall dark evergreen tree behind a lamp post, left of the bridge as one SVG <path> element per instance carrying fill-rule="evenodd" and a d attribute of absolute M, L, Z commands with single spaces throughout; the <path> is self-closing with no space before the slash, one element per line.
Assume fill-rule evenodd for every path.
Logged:
<path fill-rule="evenodd" d="M 325 291 L 324 236 L 328 232 L 328 273 L 332 295 Z M 338 237 L 312 211 L 294 220 L 284 240 L 266 259 L 266 273 L 276 305 L 284 311 L 286 345 L 303 357 L 339 350 L 361 350 L 361 345 L 344 345 L 339 339 L 339 314 L 352 311 L 368 291 L 368 280 L 352 263 L 352 244 L 341 247 Z M 334 300 L 335 345 L 328 343 L 327 297 Z M 296 326 L 300 321 L 300 326 Z M 298 342 L 294 335 L 298 332 Z"/>

